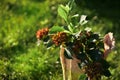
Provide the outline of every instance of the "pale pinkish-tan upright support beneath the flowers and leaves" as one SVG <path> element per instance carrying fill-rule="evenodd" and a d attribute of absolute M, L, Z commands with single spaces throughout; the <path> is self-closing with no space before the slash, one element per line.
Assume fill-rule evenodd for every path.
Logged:
<path fill-rule="evenodd" d="M 63 80 L 79 80 L 81 70 L 76 58 L 67 59 L 64 56 L 64 48 L 60 49 L 60 61 L 63 71 Z"/>

